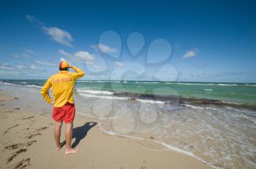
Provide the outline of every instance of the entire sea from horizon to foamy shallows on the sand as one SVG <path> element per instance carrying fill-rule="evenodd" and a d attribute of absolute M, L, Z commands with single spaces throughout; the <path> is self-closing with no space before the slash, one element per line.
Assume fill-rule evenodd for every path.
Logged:
<path fill-rule="evenodd" d="M 46 80 L 0 80 L 39 95 Z M 80 115 L 111 135 L 154 141 L 213 168 L 256 168 L 256 84 L 80 80 Z M 159 150 L 159 149 L 158 149 Z"/>

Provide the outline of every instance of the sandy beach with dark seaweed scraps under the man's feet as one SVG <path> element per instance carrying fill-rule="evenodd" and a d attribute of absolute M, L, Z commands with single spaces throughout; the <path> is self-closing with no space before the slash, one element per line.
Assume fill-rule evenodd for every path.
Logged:
<path fill-rule="evenodd" d="M 90 117 L 76 117 L 74 122 L 72 146 L 79 152 L 65 155 L 64 147 L 56 152 L 49 106 L 45 109 L 41 101 L 33 112 L 24 107 L 33 106 L 37 100 L 22 106 L 19 101 L 20 95 L 1 90 L 0 168 L 211 168 L 152 141 L 108 135 L 100 129 L 98 119 Z"/>

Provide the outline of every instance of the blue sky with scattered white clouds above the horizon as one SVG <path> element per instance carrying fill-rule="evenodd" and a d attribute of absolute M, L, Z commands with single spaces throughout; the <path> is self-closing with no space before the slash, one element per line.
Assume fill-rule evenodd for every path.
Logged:
<path fill-rule="evenodd" d="M 255 1 L 1 1 L 0 79 L 256 82 Z"/>

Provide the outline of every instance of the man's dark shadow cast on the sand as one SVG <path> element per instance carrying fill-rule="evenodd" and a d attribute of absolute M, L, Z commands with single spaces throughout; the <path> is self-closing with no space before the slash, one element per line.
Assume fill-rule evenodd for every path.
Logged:
<path fill-rule="evenodd" d="M 92 127 L 94 127 L 95 125 L 97 125 L 97 122 L 86 122 L 86 124 L 84 124 L 80 127 L 73 128 L 73 137 L 72 138 L 75 138 L 75 142 L 72 144 L 72 148 L 74 148 L 75 146 L 78 146 L 80 141 L 86 137 L 89 130 Z M 65 144 L 66 144 L 66 141 L 62 141 L 61 147 L 64 146 Z"/>

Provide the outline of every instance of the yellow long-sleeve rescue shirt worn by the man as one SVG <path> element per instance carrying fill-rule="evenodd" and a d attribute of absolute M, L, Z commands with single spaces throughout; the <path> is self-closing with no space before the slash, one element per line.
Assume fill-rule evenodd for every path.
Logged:
<path fill-rule="evenodd" d="M 48 103 L 52 103 L 52 99 L 49 95 L 49 89 L 50 87 L 52 88 L 55 101 L 54 107 L 62 107 L 67 102 L 74 103 L 73 88 L 75 86 L 75 80 L 84 76 L 85 73 L 75 66 L 72 66 L 72 68 L 76 72 L 59 71 L 58 74 L 50 76 L 42 87 L 42 97 Z"/>

